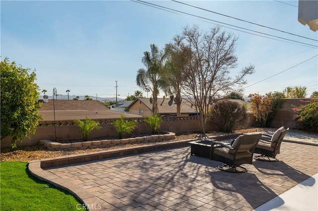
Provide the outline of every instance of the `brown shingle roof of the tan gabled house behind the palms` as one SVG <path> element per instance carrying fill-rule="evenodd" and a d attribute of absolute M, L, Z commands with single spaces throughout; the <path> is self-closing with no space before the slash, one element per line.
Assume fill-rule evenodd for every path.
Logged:
<path fill-rule="evenodd" d="M 150 103 L 150 98 L 138 98 L 130 106 L 136 102 L 141 102 L 147 106 L 150 110 L 152 109 L 152 104 Z M 130 107 L 128 106 L 128 108 Z M 177 106 L 174 101 L 170 98 L 158 98 L 158 113 L 176 113 Z M 196 113 L 195 107 L 188 102 L 188 99 L 183 99 L 180 107 L 181 113 Z"/>

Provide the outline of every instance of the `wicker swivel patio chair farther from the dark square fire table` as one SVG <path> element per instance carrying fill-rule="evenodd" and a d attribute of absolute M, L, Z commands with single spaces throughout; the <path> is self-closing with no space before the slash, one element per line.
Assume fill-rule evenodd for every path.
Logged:
<path fill-rule="evenodd" d="M 262 134 L 262 137 L 260 138 L 254 151 L 254 153 L 260 155 L 254 156 L 254 159 L 269 162 L 278 161 L 276 155 L 279 154 L 280 145 L 288 131 L 289 128 L 285 130 L 284 127 L 280 127 L 272 136 Z"/>

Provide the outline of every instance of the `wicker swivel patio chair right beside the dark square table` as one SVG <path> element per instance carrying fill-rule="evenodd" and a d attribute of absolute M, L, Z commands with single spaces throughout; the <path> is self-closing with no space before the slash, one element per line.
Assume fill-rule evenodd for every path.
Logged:
<path fill-rule="evenodd" d="M 242 173 L 246 172 L 243 163 L 252 164 L 254 149 L 262 134 L 240 135 L 230 145 L 214 141 L 211 146 L 210 160 L 217 160 L 226 164 L 219 165 L 222 171 Z"/>

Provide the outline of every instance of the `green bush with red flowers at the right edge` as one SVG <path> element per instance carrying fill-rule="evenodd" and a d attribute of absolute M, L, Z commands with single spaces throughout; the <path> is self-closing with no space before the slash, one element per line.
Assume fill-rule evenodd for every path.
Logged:
<path fill-rule="evenodd" d="M 304 130 L 318 131 L 318 100 L 300 100 L 304 105 L 293 106 L 296 112 L 295 120 Z"/>

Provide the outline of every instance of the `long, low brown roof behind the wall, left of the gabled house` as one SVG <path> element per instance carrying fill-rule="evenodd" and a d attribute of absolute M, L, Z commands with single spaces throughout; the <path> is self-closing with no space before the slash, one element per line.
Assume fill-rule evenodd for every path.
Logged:
<path fill-rule="evenodd" d="M 54 109 L 55 108 L 55 109 Z M 140 118 L 142 116 L 123 113 L 110 110 L 98 101 L 74 101 L 74 100 L 49 100 L 48 103 L 43 103 L 39 108 L 39 114 L 42 115 L 44 121 L 55 120 L 75 120 L 75 119 L 116 119 L 120 115 L 126 118 Z"/>

